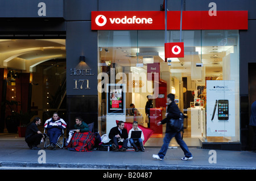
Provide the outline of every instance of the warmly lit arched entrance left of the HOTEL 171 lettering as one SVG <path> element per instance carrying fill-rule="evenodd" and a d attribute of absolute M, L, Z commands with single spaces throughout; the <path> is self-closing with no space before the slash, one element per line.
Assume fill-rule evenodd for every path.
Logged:
<path fill-rule="evenodd" d="M 0 47 L 1 133 L 35 116 L 43 125 L 56 111 L 65 118 L 65 39 L 1 39 Z"/>

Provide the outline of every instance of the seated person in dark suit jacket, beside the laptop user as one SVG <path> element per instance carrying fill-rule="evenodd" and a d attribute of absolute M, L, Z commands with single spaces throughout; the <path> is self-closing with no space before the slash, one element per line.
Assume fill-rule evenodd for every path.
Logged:
<path fill-rule="evenodd" d="M 114 151 L 126 151 L 128 143 L 128 133 L 125 129 L 125 123 L 119 121 L 117 127 L 110 129 L 109 132 L 110 142 L 112 142 L 112 148 Z M 118 145 L 122 145 L 121 149 L 118 149 Z"/>

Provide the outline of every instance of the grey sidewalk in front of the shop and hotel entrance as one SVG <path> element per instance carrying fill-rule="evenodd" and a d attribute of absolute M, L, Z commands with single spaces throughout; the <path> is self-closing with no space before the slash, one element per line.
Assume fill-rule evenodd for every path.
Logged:
<path fill-rule="evenodd" d="M 160 148 L 146 147 L 145 152 L 98 151 L 76 152 L 67 149 L 46 151 L 46 163 L 39 163 L 41 154 L 30 150 L 24 138 L 0 139 L 0 170 L 3 169 L 115 169 L 115 170 L 255 170 L 256 153 L 251 151 L 216 150 L 217 163 L 209 163 L 210 150 L 190 147 L 193 159 L 181 161 L 183 151 L 168 149 L 164 161 L 155 160 Z M 43 148 L 41 144 L 39 146 Z M 38 154 L 39 153 L 39 154 Z M 41 157 L 42 158 L 42 157 Z M 212 157 L 211 157 L 212 158 Z M 211 160 L 211 159 L 210 159 Z"/>

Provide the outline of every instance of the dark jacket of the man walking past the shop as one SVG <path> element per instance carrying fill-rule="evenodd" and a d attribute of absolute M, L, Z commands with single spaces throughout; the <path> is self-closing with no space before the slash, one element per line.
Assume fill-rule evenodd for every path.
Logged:
<path fill-rule="evenodd" d="M 175 102 L 171 102 L 171 104 L 167 106 L 166 113 L 168 113 L 167 117 L 160 121 L 162 124 L 166 124 L 170 119 L 179 119 L 180 117 L 180 110 Z M 168 132 L 172 132 L 169 124 L 166 125 L 166 133 Z"/>

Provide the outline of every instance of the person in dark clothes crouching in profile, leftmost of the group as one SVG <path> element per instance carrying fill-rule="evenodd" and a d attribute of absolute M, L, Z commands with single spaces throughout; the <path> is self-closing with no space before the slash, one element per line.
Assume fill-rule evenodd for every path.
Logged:
<path fill-rule="evenodd" d="M 27 145 L 32 150 L 40 150 L 38 145 L 44 142 L 44 135 L 38 130 L 38 125 L 41 124 L 41 119 L 35 117 L 35 119 L 27 125 L 25 141 Z"/>

